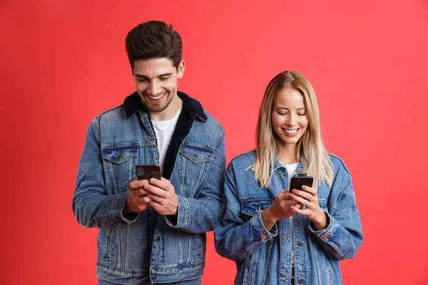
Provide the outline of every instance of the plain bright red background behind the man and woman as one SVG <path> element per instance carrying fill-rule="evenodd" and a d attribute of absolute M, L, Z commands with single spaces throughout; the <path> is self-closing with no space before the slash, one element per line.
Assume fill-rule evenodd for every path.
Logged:
<path fill-rule="evenodd" d="M 151 19 L 182 36 L 178 87 L 223 124 L 228 162 L 254 147 L 268 81 L 307 76 L 365 233 L 344 283 L 427 284 L 422 0 L 0 1 L 0 284 L 96 284 L 98 230 L 71 211 L 78 158 L 90 120 L 133 92 L 124 39 Z M 234 275 L 208 234 L 203 284 Z"/>

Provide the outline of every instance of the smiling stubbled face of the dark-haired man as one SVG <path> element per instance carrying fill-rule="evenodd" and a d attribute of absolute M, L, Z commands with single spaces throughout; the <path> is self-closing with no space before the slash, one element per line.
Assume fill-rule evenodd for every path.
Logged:
<path fill-rule="evenodd" d="M 184 61 L 180 62 L 178 71 L 169 58 L 141 59 L 134 62 L 133 80 L 148 113 L 162 117 L 169 109 L 176 111 L 176 104 L 170 103 L 173 100 L 180 103 L 177 81 L 183 77 L 183 73 Z"/>

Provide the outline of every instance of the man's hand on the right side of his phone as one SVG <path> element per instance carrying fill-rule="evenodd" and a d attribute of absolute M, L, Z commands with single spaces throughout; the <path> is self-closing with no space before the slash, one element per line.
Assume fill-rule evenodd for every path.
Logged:
<path fill-rule="evenodd" d="M 151 199 L 148 204 L 162 216 L 177 217 L 178 197 L 171 182 L 162 177 L 162 180 L 151 178 L 150 183 L 144 185 L 144 190 L 148 192 L 147 197 Z"/>

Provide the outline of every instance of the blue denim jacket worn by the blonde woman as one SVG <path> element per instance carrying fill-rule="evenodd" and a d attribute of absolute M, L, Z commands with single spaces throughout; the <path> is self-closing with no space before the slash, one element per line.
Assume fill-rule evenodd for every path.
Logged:
<path fill-rule="evenodd" d="M 318 202 L 330 220 L 327 228 L 317 231 L 307 217 L 295 214 L 293 236 L 290 219 L 280 219 L 267 231 L 261 218 L 288 187 L 287 170 L 276 161 L 269 187 L 260 188 L 251 170 L 254 161 L 255 152 L 248 152 L 230 162 L 214 231 L 217 252 L 237 264 L 235 284 L 291 284 L 292 249 L 295 284 L 342 284 L 338 261 L 354 257 L 362 243 L 351 177 L 342 160 L 330 155 L 332 187 L 317 187 Z M 302 163 L 297 171 L 305 171 Z"/>

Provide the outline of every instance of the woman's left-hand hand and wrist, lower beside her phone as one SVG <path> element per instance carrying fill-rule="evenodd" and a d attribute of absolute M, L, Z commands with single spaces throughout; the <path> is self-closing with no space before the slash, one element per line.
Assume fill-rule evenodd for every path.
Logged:
<path fill-rule="evenodd" d="M 294 206 L 292 206 L 294 205 Z M 278 193 L 273 203 L 262 212 L 262 220 L 265 229 L 270 231 L 275 222 L 279 219 L 287 219 L 295 214 L 295 209 L 300 209 L 302 204 L 297 200 L 292 199 L 292 194 L 288 189 Z"/>

